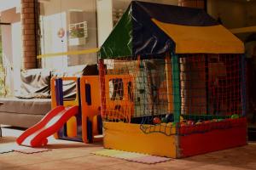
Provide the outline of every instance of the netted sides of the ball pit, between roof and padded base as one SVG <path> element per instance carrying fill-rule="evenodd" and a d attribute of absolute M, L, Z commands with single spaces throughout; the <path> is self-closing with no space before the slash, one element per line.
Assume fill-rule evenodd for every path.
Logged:
<path fill-rule="evenodd" d="M 187 135 L 238 126 L 241 56 L 168 54 L 104 59 L 106 122 L 140 124 L 143 133 Z"/>

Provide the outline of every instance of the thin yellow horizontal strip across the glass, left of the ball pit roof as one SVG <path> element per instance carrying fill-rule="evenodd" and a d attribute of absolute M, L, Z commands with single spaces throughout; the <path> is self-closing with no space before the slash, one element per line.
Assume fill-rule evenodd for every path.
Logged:
<path fill-rule="evenodd" d="M 67 51 L 65 53 L 42 54 L 42 55 L 38 55 L 37 59 L 56 57 L 61 55 L 92 54 L 92 53 L 97 53 L 98 51 L 99 51 L 99 48 L 91 48 L 91 49 L 85 49 L 85 50 L 79 50 L 79 51 Z"/>

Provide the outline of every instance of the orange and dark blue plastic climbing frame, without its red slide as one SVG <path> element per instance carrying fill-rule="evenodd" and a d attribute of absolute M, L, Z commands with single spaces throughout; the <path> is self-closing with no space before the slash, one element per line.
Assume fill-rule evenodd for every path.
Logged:
<path fill-rule="evenodd" d="M 75 83 L 75 86 L 73 84 Z M 72 88 L 73 87 L 73 88 Z M 73 99 L 64 99 L 65 89 Z M 99 77 L 59 77 L 51 79 L 52 108 L 59 105 L 79 107 L 77 114 L 68 119 L 55 139 L 67 139 L 91 143 L 102 139 L 102 117 L 99 98 Z M 73 91 L 73 92 L 70 92 Z"/>

